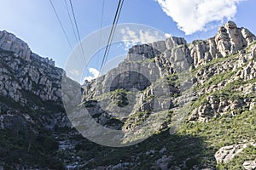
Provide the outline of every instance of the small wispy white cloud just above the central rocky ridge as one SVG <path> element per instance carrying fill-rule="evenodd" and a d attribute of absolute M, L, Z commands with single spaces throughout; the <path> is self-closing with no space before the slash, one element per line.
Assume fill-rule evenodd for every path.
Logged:
<path fill-rule="evenodd" d="M 153 30 L 131 30 L 131 28 L 122 28 L 120 33 L 123 35 L 122 41 L 125 43 L 125 50 L 136 44 L 152 43 L 170 37 L 171 34 L 164 34 Z"/>

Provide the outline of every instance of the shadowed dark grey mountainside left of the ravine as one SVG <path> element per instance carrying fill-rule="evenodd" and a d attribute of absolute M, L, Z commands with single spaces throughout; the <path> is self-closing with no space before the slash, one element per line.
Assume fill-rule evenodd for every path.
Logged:
<path fill-rule="evenodd" d="M 52 59 L 33 54 L 26 42 L 7 31 L 0 31 L 0 136 L 3 139 L 0 157 L 4 160 L 0 167 L 3 165 L 3 169 L 42 166 L 39 161 L 31 164 L 29 160 L 33 158 L 26 156 L 38 159 L 38 147 L 51 150 L 46 151 L 46 155 L 55 154 L 58 145 L 52 133 L 71 127 L 61 100 L 64 73 L 55 67 Z M 8 135 L 4 136 L 4 133 Z M 18 140 L 22 142 L 16 143 Z M 3 143 L 13 145 L 3 147 Z M 15 144 L 17 150 L 13 148 Z M 8 155 L 23 163 L 9 162 Z M 40 159 L 43 161 L 45 157 Z M 55 160 L 55 164 L 51 168 L 58 169 L 60 163 Z"/>

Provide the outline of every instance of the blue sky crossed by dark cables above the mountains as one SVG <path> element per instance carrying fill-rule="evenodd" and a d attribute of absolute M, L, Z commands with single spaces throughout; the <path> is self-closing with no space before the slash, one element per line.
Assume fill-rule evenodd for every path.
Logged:
<path fill-rule="evenodd" d="M 32 52 L 54 59 L 56 66 L 64 68 L 68 57 L 73 53 L 73 49 L 78 47 L 79 42 L 74 36 L 68 15 L 72 14 L 69 0 L 52 2 L 72 47 L 61 31 L 49 0 L 0 0 L 0 30 L 14 33 L 28 43 Z M 112 25 L 118 0 L 105 0 L 104 5 L 103 0 L 72 2 L 81 39 L 102 27 Z M 255 7 L 255 0 L 125 0 L 119 24 L 151 26 L 166 35 L 184 37 L 187 42 L 192 42 L 195 39 L 213 37 L 218 26 L 222 26 L 227 20 L 233 20 L 237 26 L 246 27 L 256 34 L 253 22 L 256 18 Z M 147 37 L 150 35 L 144 32 L 143 38 Z M 148 39 L 154 41 L 154 38 Z M 116 48 L 120 46 L 113 46 L 110 56 L 116 55 Z M 127 50 L 127 47 L 121 48 Z M 101 54 L 102 52 L 99 52 L 98 55 Z M 91 79 L 99 75 L 99 60 L 95 57 L 90 61 L 90 65 L 87 65 L 88 68 L 84 71 L 84 77 Z"/>

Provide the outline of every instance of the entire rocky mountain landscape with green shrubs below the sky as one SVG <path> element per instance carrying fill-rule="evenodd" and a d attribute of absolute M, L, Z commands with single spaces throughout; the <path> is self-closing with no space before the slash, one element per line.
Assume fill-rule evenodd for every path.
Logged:
<path fill-rule="evenodd" d="M 76 102 L 52 59 L 7 31 L 0 49 L 0 169 L 256 168 L 256 37 L 234 22 L 130 48 Z"/>

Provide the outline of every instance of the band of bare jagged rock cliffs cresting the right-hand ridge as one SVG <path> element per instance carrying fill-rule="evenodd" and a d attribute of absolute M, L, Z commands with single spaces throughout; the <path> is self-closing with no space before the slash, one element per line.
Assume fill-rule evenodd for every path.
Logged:
<path fill-rule="evenodd" d="M 135 45 L 129 49 L 126 60 L 151 59 L 183 45 L 184 50 L 187 47 L 189 48 L 189 50 L 186 50 L 194 60 L 195 67 L 197 67 L 212 59 L 236 54 L 254 41 L 256 41 L 256 37 L 251 31 L 243 27 L 239 28 L 235 22 L 228 21 L 224 26 L 218 28 L 215 37 L 207 40 L 195 40 L 192 43 L 187 43 L 183 37 L 168 37 L 164 41 Z"/>

